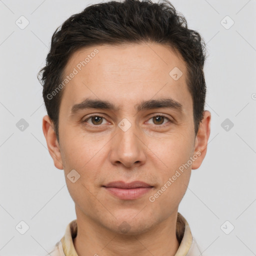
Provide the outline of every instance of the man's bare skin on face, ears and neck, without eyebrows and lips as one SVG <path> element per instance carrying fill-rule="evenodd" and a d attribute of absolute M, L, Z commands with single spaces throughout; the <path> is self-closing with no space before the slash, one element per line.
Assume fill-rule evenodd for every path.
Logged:
<path fill-rule="evenodd" d="M 191 169 L 198 168 L 205 156 L 210 112 L 204 111 L 195 136 L 185 63 L 178 53 L 161 44 L 82 48 L 69 58 L 65 74 L 95 48 L 99 52 L 64 87 L 59 142 L 48 115 L 42 123 L 49 153 L 56 168 L 64 169 L 75 203 L 75 249 L 80 256 L 174 255 L 179 246 L 175 235 L 178 205 Z M 178 80 L 169 75 L 175 66 L 183 72 Z M 135 110 L 141 100 L 166 97 L 182 104 L 183 113 L 169 108 Z M 71 115 L 72 105 L 85 98 L 109 100 L 119 109 L 91 108 Z M 90 114 L 104 118 L 100 124 L 95 117 L 85 121 Z M 157 114 L 167 118 L 157 121 L 152 118 Z M 118 127 L 123 118 L 131 124 L 125 132 Z M 149 196 L 198 151 L 200 156 L 150 202 Z M 74 183 L 67 178 L 72 169 L 80 174 Z M 102 187 L 116 180 L 140 180 L 153 188 L 137 199 L 122 200 Z M 126 233 L 119 228 L 123 221 L 128 223 Z"/>

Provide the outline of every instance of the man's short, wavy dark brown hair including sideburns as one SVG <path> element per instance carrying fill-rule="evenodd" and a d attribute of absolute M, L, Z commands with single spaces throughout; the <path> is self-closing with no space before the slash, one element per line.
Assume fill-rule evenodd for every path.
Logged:
<path fill-rule="evenodd" d="M 170 46 L 183 58 L 186 84 L 193 100 L 195 134 L 203 118 L 206 86 L 203 73 L 205 43 L 198 32 L 188 29 L 186 19 L 164 0 L 109 1 L 86 7 L 71 15 L 52 35 L 45 66 L 37 77 L 43 85 L 47 114 L 58 137 L 58 115 L 62 89 L 49 95 L 62 81 L 63 69 L 71 54 L 86 46 L 155 42 Z M 58 139 L 59 140 L 59 139 Z"/>

